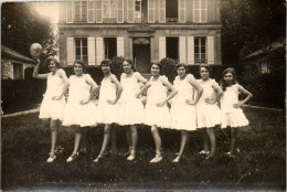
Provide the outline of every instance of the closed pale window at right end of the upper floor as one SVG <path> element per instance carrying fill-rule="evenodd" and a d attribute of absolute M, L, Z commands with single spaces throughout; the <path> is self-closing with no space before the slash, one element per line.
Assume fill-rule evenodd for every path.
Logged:
<path fill-rule="evenodd" d="M 206 22 L 206 0 L 193 1 L 193 21 L 196 23 Z"/>

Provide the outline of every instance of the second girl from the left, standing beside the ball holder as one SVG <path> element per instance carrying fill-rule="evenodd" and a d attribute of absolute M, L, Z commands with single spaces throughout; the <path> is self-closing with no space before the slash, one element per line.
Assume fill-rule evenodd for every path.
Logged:
<path fill-rule="evenodd" d="M 75 75 L 68 78 L 68 98 L 65 108 L 63 126 L 75 128 L 74 151 L 66 162 L 72 162 L 78 156 L 78 148 L 84 135 L 84 127 L 96 126 L 96 106 L 91 102 L 97 90 L 97 84 L 85 74 L 85 64 L 76 61 L 73 65 Z"/>

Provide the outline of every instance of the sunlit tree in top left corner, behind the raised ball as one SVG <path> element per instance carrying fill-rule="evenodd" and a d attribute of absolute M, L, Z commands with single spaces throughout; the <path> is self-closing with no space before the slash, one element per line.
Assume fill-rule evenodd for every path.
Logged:
<path fill-rule="evenodd" d="M 46 49 L 44 55 L 55 55 L 55 26 L 38 14 L 32 2 L 4 2 L 1 11 L 3 45 L 30 56 L 30 45 L 36 42 Z"/>

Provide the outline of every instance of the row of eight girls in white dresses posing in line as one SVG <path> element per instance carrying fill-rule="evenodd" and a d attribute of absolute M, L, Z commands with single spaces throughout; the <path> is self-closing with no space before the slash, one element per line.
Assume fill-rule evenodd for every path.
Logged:
<path fill-rule="evenodd" d="M 178 64 L 178 76 L 172 85 L 162 75 L 160 63 L 151 63 L 151 78 L 147 81 L 136 72 L 132 61 L 125 58 L 124 73 L 119 82 L 110 72 L 111 61 L 104 60 L 100 63 L 104 78 L 98 86 L 91 75 L 85 73 L 85 64 L 81 61 L 74 63 L 74 75 L 70 78 L 62 68 L 59 68 L 57 60 L 49 57 L 46 65 L 51 72 L 39 74 L 40 60 L 38 60 L 33 72 L 33 77 L 47 79 L 46 92 L 40 107 L 40 118 L 50 119 L 51 126 L 52 146 L 46 162 L 53 162 L 61 150 L 57 135 L 62 125 L 75 128 L 74 150 L 66 162 L 75 160 L 79 151 L 86 151 L 84 127 L 105 125 L 102 150 L 94 160 L 98 162 L 108 146 L 111 124 L 128 127 L 126 136 L 129 145 L 127 157 L 129 161 L 136 158 L 137 125 L 151 126 L 156 146 L 156 157 L 150 160 L 151 163 L 162 160 L 159 128 L 181 130 L 180 151 L 172 161 L 179 162 L 189 139 L 189 131 L 204 130 L 204 150 L 200 153 L 206 154 L 209 159 L 215 154 L 213 128 L 216 125 L 221 125 L 222 128 L 231 127 L 231 150 L 227 154 L 233 157 L 236 128 L 248 125 L 241 106 L 252 97 L 252 94 L 237 84 L 233 68 L 223 72 L 220 86 L 210 78 L 209 65 L 200 65 L 201 79 L 196 81 L 184 64 Z M 64 95 L 67 90 L 68 96 L 65 102 Z M 240 93 L 247 95 L 242 102 L 238 100 Z M 93 99 L 97 95 L 98 102 L 95 105 Z"/>

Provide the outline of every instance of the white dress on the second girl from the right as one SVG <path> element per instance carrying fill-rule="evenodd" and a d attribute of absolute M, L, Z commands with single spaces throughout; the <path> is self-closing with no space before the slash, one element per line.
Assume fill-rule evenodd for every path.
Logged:
<path fill-rule="evenodd" d="M 215 90 L 213 84 L 217 83 L 214 79 L 198 81 L 203 88 L 202 96 L 196 105 L 198 128 L 210 128 L 221 124 L 221 111 L 217 104 L 206 104 L 205 99 L 215 99 Z"/>

